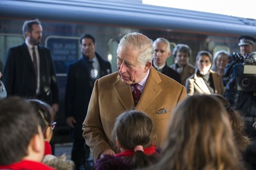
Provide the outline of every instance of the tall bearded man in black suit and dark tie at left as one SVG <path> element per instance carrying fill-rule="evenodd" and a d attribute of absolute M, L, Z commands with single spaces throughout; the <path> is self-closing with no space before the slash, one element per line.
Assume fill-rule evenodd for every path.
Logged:
<path fill-rule="evenodd" d="M 42 26 L 39 20 L 27 20 L 22 27 L 26 41 L 11 47 L 4 66 L 3 82 L 7 95 L 38 98 L 58 111 L 59 91 L 51 51 L 39 45 Z"/>

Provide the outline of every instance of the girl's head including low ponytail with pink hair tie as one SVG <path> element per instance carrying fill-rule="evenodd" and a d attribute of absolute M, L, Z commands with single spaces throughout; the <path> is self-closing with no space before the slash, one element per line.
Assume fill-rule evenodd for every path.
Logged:
<path fill-rule="evenodd" d="M 126 111 L 116 118 L 113 137 L 120 151 L 134 152 L 130 157 L 122 157 L 131 168 L 146 167 L 157 161 L 154 148 L 156 135 L 152 120 L 141 111 Z M 147 149 L 154 150 L 145 153 Z M 152 149 L 153 148 L 153 149 Z"/>

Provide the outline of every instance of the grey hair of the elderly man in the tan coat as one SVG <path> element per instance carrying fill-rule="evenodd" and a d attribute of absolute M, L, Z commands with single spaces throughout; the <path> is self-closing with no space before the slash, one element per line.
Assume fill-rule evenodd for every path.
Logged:
<path fill-rule="evenodd" d="M 135 32 L 125 35 L 118 44 L 118 48 L 116 50 L 117 54 L 124 49 L 138 50 L 138 62 L 141 65 L 146 65 L 148 61 L 152 61 L 153 59 L 153 41 L 141 33 Z"/>

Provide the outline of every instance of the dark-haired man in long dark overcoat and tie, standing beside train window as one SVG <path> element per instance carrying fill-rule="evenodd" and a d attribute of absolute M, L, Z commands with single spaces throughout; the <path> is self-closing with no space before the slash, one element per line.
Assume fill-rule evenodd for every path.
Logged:
<path fill-rule="evenodd" d="M 92 35 L 83 35 L 80 43 L 82 57 L 68 68 L 65 95 L 65 113 L 67 124 L 73 131 L 72 160 L 76 164 L 76 169 L 79 169 L 84 154 L 82 125 L 92 95 L 93 84 L 96 79 L 111 73 L 110 63 L 95 52 L 96 43 Z"/>

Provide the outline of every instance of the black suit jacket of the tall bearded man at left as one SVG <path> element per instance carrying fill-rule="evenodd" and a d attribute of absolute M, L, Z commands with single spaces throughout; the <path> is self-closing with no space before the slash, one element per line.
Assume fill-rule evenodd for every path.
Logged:
<path fill-rule="evenodd" d="M 50 49 L 38 45 L 40 61 L 40 92 L 36 95 L 36 75 L 26 43 L 8 50 L 3 82 L 7 95 L 38 98 L 48 104 L 58 104 L 59 91 Z"/>

